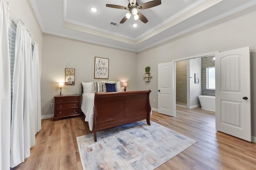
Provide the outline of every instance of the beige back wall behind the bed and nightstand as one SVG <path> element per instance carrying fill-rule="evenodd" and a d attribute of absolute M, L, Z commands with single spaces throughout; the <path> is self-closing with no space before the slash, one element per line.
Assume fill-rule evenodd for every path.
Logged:
<path fill-rule="evenodd" d="M 43 44 L 42 115 L 54 113 L 50 105 L 59 93 L 58 82 L 65 80 L 65 68 L 75 68 L 75 85 L 64 86 L 63 94 L 81 94 L 81 82 L 101 81 L 94 79 L 94 57 L 109 59 L 109 81 L 127 82 L 127 91 L 137 90 L 136 53 L 50 34 L 44 34 Z"/>

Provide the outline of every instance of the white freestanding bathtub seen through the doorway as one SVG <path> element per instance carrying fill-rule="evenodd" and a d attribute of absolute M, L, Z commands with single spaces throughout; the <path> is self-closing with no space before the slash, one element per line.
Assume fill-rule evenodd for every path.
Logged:
<path fill-rule="evenodd" d="M 198 96 L 202 109 L 215 111 L 215 96 Z"/>

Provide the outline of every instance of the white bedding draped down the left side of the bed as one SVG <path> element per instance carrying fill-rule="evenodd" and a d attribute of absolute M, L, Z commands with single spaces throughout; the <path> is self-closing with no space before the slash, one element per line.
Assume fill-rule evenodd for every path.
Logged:
<path fill-rule="evenodd" d="M 82 112 L 84 112 L 85 121 L 88 121 L 90 131 L 92 131 L 92 127 L 93 127 L 94 95 L 95 93 L 82 94 L 81 110 Z M 152 110 L 150 111 L 150 116 L 151 115 L 152 115 Z"/>

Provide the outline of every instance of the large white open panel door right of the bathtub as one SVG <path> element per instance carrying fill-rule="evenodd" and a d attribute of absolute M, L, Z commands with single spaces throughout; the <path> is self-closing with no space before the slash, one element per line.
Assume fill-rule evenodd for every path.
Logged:
<path fill-rule="evenodd" d="M 218 53 L 216 67 L 216 130 L 252 141 L 250 49 Z"/>

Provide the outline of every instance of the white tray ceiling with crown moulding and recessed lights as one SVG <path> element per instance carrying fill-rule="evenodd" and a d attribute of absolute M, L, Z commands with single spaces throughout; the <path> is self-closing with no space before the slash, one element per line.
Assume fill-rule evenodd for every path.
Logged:
<path fill-rule="evenodd" d="M 138 4 L 148 1 L 137 0 Z M 108 8 L 106 4 L 128 6 L 129 0 L 30 2 L 44 33 L 135 52 L 256 5 L 256 0 L 162 0 L 159 6 L 140 10 L 147 23 L 131 17 L 120 24 L 128 10 Z M 98 11 L 93 13 L 92 7 Z M 133 22 L 138 27 L 133 27 Z"/>

